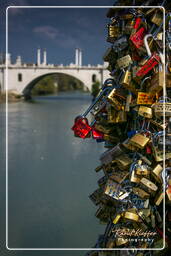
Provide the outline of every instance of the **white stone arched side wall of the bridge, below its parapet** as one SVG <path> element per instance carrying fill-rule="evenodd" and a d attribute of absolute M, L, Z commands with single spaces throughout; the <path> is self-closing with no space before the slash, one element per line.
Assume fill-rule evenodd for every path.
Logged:
<path fill-rule="evenodd" d="M 6 82 L 5 68 L 3 69 L 3 77 Z M 32 81 L 38 81 L 39 77 L 44 77 L 45 75 L 62 73 L 72 76 L 80 80 L 84 86 L 86 86 L 89 91 L 92 90 L 93 77 L 102 84 L 107 78 L 109 78 L 109 71 L 104 67 L 70 67 L 70 66 L 49 66 L 49 67 L 37 67 L 37 66 L 10 66 L 8 68 L 7 76 L 7 90 L 16 91 L 22 94 L 23 91 L 28 89 L 28 85 L 33 86 Z M 5 83 L 3 83 L 3 88 L 5 88 Z"/>

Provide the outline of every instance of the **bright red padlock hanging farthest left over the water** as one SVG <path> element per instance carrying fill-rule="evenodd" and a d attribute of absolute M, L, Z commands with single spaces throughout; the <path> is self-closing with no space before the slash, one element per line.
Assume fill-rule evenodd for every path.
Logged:
<path fill-rule="evenodd" d="M 90 137 L 90 131 L 92 127 L 88 124 L 88 119 L 82 116 L 78 116 L 75 118 L 75 124 L 71 128 L 74 131 L 74 135 L 76 137 L 80 137 L 85 139 Z"/>

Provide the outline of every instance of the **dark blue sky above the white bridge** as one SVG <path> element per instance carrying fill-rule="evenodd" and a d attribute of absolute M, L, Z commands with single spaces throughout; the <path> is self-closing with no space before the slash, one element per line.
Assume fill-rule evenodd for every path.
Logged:
<path fill-rule="evenodd" d="M 112 6 L 114 0 L 1 0 L 0 51 L 5 51 L 7 6 Z M 47 50 L 48 63 L 69 64 L 75 48 L 82 49 L 83 65 L 102 64 L 110 43 L 106 42 L 108 8 L 9 8 L 8 46 L 15 61 L 36 62 L 36 51 Z"/>

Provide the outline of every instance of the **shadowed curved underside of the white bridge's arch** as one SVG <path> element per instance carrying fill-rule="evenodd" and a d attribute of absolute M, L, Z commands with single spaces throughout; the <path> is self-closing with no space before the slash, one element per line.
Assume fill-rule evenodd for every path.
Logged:
<path fill-rule="evenodd" d="M 72 78 L 75 78 L 77 79 L 78 81 L 80 81 L 82 84 L 83 84 L 83 89 L 89 89 L 85 84 L 84 84 L 84 81 L 81 81 L 80 79 L 78 79 L 77 77 L 71 75 L 71 74 L 67 74 L 65 72 L 58 72 L 58 71 L 54 71 L 54 72 L 48 72 L 46 74 L 43 74 L 43 75 L 40 75 L 36 78 L 33 78 L 28 84 L 25 85 L 25 87 L 23 88 L 22 90 L 22 94 L 24 96 L 26 95 L 30 95 L 31 94 L 31 90 L 34 88 L 34 86 L 40 81 L 42 80 L 43 78 L 47 77 L 47 76 L 50 76 L 50 75 L 58 75 L 58 74 L 63 74 L 63 75 L 67 75 L 67 76 L 70 76 Z M 20 75 L 20 74 L 19 74 Z"/>

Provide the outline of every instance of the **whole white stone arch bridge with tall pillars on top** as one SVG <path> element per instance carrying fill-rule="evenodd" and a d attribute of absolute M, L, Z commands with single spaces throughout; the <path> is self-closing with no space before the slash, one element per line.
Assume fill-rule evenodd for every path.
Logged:
<path fill-rule="evenodd" d="M 50 74 L 66 74 L 80 80 L 85 89 L 91 91 L 92 83 L 99 81 L 103 83 L 109 78 L 109 71 L 106 64 L 103 65 L 82 65 L 82 51 L 76 49 L 75 63 L 69 65 L 55 65 L 47 63 L 47 52 L 43 51 L 43 61 L 41 62 L 41 50 L 37 50 L 36 63 L 22 63 L 21 56 L 18 56 L 15 63 L 11 62 L 11 55 L 7 54 L 6 63 L 0 64 L 0 90 L 14 91 L 18 94 L 28 95 L 36 83 Z M 6 65 L 7 64 L 7 69 Z M 6 72 L 7 88 L 6 88 Z"/>

